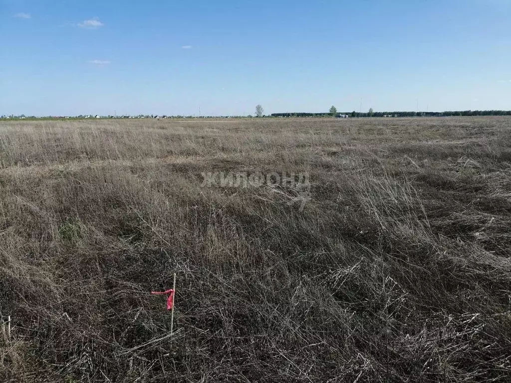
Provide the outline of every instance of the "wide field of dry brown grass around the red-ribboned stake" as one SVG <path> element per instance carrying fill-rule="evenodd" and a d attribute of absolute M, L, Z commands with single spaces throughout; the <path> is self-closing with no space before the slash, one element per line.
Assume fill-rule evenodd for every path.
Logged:
<path fill-rule="evenodd" d="M 511 117 L 0 122 L 0 381 L 510 381 L 510 254 Z"/>

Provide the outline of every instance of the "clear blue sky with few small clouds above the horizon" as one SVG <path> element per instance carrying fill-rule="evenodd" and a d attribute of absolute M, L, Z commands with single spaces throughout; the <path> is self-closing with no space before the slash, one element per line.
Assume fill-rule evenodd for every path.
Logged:
<path fill-rule="evenodd" d="M 511 0 L 0 0 L 0 115 L 511 109 Z"/>

